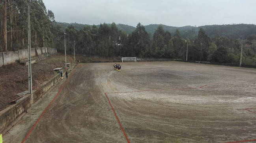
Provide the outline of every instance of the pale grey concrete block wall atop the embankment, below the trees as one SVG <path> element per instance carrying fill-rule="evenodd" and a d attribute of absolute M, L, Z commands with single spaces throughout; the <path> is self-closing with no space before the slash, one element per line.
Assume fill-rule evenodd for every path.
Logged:
<path fill-rule="evenodd" d="M 55 48 L 31 48 L 31 56 L 40 56 L 45 53 L 56 54 Z M 10 63 L 15 63 L 17 60 L 28 59 L 28 49 L 22 49 L 14 52 L 0 52 L 0 67 Z"/>

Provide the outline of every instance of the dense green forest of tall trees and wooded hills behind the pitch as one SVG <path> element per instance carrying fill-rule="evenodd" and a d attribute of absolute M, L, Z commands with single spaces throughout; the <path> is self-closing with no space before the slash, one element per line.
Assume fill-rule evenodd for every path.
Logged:
<path fill-rule="evenodd" d="M 53 47 L 87 55 L 176 58 L 256 65 L 256 25 L 230 24 L 171 27 L 124 24 L 85 25 L 55 22 L 42 0 L 30 0 L 32 47 Z M 1 0 L 0 52 L 26 49 L 28 1 Z M 243 39 L 243 40 L 242 40 Z"/>

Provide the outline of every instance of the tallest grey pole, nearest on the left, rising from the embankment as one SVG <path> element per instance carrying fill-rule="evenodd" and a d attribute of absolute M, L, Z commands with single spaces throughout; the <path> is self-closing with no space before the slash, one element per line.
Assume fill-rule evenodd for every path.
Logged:
<path fill-rule="evenodd" d="M 28 93 L 32 94 L 31 42 L 30 42 L 30 0 L 28 0 Z M 33 99 L 33 96 L 32 96 Z"/>

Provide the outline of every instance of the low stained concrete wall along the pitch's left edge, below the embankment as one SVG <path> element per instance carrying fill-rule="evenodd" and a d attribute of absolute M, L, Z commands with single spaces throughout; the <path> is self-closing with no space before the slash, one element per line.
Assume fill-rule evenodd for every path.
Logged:
<path fill-rule="evenodd" d="M 45 92 L 50 89 L 50 87 L 56 84 L 59 79 L 60 74 L 57 74 L 52 80 L 48 81 L 37 91 L 33 91 L 33 96 L 31 94 L 26 94 L 19 103 L 13 104 L 10 107 L 0 111 L 0 132 L 3 132 L 3 130 L 11 125 L 13 121 L 19 118 L 23 112 L 26 112 L 26 110 L 39 98 L 41 98 Z"/>

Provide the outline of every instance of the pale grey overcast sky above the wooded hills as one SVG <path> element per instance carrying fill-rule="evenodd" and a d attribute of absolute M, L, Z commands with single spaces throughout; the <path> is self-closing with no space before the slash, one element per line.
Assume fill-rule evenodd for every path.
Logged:
<path fill-rule="evenodd" d="M 57 22 L 136 26 L 256 24 L 256 0 L 43 0 Z"/>

